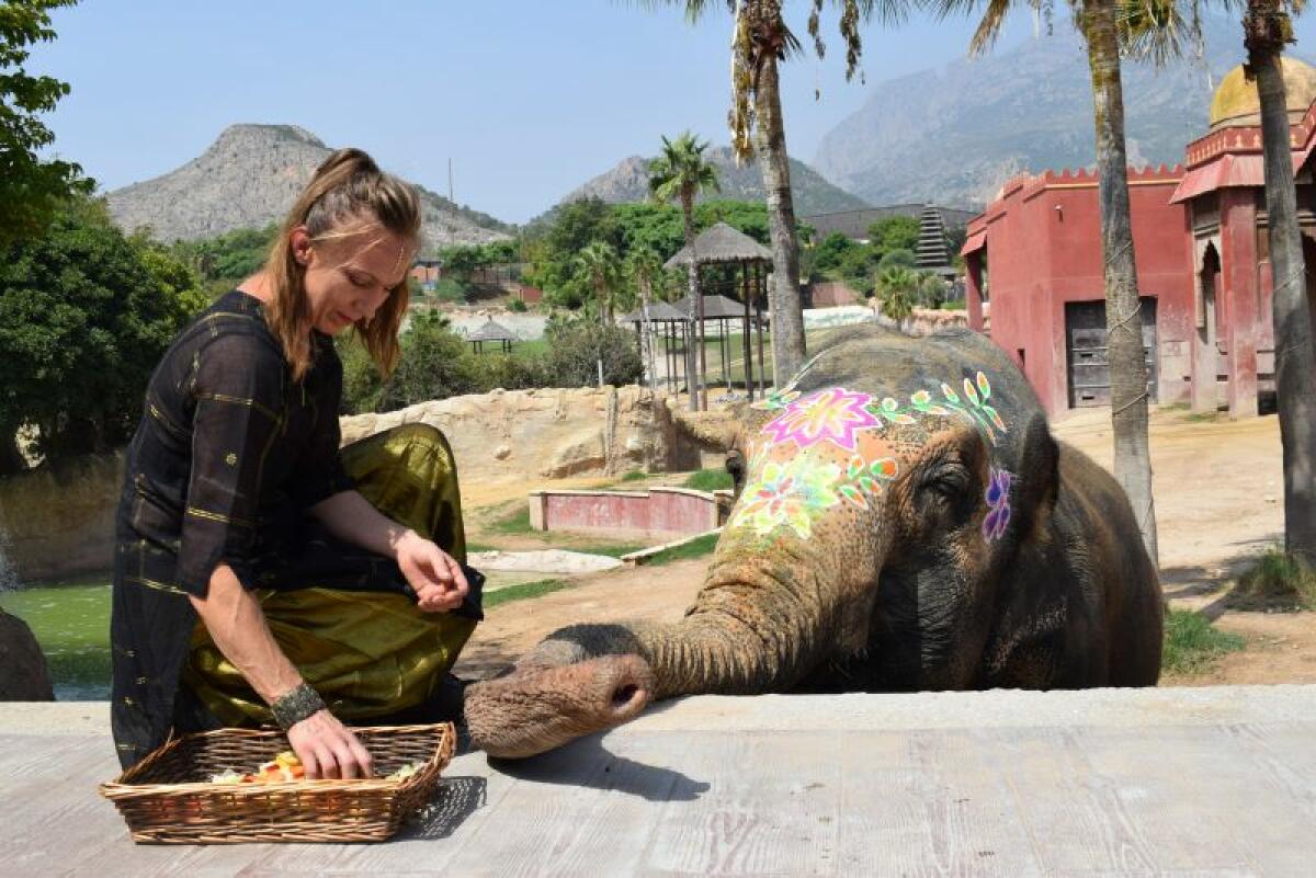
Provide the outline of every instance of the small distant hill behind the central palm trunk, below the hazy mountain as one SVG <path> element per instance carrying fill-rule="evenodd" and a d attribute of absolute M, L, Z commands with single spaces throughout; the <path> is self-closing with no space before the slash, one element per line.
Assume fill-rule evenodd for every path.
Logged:
<path fill-rule="evenodd" d="M 729 146 L 715 147 L 707 155 L 717 166 L 717 180 L 722 188 L 721 195 L 712 197 L 737 201 L 763 200 L 763 176 L 757 163 L 737 166 Z M 562 204 L 580 198 L 600 198 L 608 204 L 645 201 L 649 198 L 649 162 L 650 159 L 638 155 L 622 159 L 611 171 L 605 171 L 569 192 L 562 198 Z M 832 185 L 817 171 L 796 159 L 791 159 L 791 195 L 795 197 L 796 217 L 858 210 L 869 206 L 849 192 Z"/>

